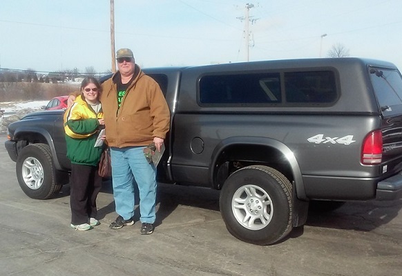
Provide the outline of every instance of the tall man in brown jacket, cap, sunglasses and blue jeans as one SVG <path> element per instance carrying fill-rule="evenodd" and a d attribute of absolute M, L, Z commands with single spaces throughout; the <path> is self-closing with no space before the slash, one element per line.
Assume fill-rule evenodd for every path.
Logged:
<path fill-rule="evenodd" d="M 102 84 L 102 110 L 106 140 L 111 148 L 113 196 L 119 215 L 109 227 L 133 225 L 133 180 L 140 192 L 141 234 L 153 233 L 156 168 L 144 157 L 144 148 L 155 143 L 160 151 L 169 131 L 170 111 L 158 84 L 135 64 L 133 52 L 117 51 L 117 68 Z"/>

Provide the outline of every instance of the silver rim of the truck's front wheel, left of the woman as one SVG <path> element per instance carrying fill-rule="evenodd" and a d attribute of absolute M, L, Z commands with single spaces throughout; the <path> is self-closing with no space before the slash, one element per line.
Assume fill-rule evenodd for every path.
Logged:
<path fill-rule="evenodd" d="M 23 161 L 22 178 L 28 188 L 32 190 L 41 188 L 44 183 L 44 168 L 38 159 L 28 157 Z"/>

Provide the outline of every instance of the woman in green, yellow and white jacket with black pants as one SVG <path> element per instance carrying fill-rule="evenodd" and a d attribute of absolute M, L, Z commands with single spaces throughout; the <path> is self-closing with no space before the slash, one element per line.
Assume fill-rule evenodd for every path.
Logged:
<path fill-rule="evenodd" d="M 71 161 L 70 226 L 76 230 L 90 230 L 100 224 L 96 219 L 96 198 L 102 177 L 97 171 L 103 148 L 94 147 L 104 127 L 100 93 L 97 79 L 86 77 L 81 83 L 81 95 L 64 114 L 67 157 Z"/>

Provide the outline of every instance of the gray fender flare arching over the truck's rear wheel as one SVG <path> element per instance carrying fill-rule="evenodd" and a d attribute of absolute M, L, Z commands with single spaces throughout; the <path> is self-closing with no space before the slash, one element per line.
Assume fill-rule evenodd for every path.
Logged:
<path fill-rule="evenodd" d="M 289 165 L 291 167 L 291 171 L 294 176 L 294 184 L 296 187 L 297 197 L 298 199 L 307 199 L 305 193 L 305 187 L 303 184 L 303 177 L 300 171 L 300 166 L 298 165 L 298 161 L 294 156 L 293 152 L 288 148 L 285 144 L 281 143 L 275 139 L 269 139 L 266 137 L 249 137 L 249 136 L 236 136 L 229 137 L 220 141 L 218 145 L 214 148 L 212 152 L 211 164 L 209 167 L 209 181 L 213 183 L 213 168 L 218 162 L 218 157 L 222 154 L 222 152 L 228 147 L 233 145 L 253 145 L 253 146 L 265 146 L 269 148 L 275 148 L 279 152 L 283 154 L 283 156 L 289 161 Z"/>

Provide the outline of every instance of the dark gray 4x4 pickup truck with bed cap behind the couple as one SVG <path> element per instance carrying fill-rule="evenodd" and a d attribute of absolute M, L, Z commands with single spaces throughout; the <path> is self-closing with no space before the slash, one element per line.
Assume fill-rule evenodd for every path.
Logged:
<path fill-rule="evenodd" d="M 402 77 L 392 63 L 297 59 L 144 70 L 171 108 L 163 183 L 220 190 L 229 232 L 273 244 L 311 201 L 402 196 Z M 64 111 L 10 124 L 22 190 L 47 199 L 69 181 Z"/>

